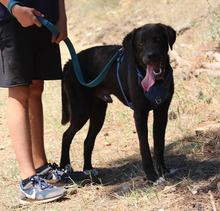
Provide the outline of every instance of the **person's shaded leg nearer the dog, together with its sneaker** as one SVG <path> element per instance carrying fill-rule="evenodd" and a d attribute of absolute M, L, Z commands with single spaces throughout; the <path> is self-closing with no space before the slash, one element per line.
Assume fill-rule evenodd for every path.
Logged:
<path fill-rule="evenodd" d="M 49 183 L 66 182 L 68 175 L 58 171 L 56 166 L 47 163 L 44 148 L 44 121 L 42 93 L 43 80 L 33 80 L 30 85 L 29 119 L 31 128 L 32 156 L 37 175 Z"/>

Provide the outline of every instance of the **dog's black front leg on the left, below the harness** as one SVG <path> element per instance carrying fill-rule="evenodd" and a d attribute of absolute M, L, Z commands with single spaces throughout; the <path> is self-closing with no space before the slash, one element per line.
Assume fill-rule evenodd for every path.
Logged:
<path fill-rule="evenodd" d="M 153 160 L 148 143 L 147 118 L 148 112 L 134 112 L 135 125 L 140 143 L 143 170 L 147 176 L 147 179 L 154 182 L 158 179 L 158 175 L 153 167 Z"/>

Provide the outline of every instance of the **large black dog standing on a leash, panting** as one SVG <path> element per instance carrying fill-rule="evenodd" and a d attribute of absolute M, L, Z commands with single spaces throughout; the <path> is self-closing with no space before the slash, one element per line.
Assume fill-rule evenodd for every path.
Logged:
<path fill-rule="evenodd" d="M 123 46 L 99 46 L 78 54 L 85 81 L 90 82 L 123 47 L 124 59 L 119 71 L 123 91 L 117 81 L 117 61 L 112 64 L 107 77 L 94 88 L 85 87 L 78 82 L 71 61 L 65 65 L 62 80 L 62 124 L 70 122 L 70 126 L 63 134 L 61 168 L 70 164 L 69 148 L 72 139 L 89 119 L 89 131 L 84 142 L 84 170 L 93 169 L 91 154 L 95 138 L 102 128 L 107 104 L 112 102 L 110 95 L 113 94 L 125 105 L 128 101 L 133 107 L 143 170 L 147 179 L 156 181 L 162 174 L 169 173 L 170 170 L 164 163 L 164 138 L 174 84 L 172 72 L 170 72 L 172 68 L 169 64 L 168 49 L 169 46 L 172 49 L 175 40 L 176 32 L 171 27 L 163 24 L 146 24 L 130 32 L 124 38 Z M 143 78 L 140 80 L 138 75 L 142 75 Z M 158 107 L 152 104 L 154 100 L 151 102 L 146 97 L 146 93 L 156 86 L 159 89 L 162 87 L 162 91 L 167 90 L 164 99 L 159 99 L 159 102 L 154 99 Z M 155 167 L 148 144 L 147 118 L 151 109 L 154 113 Z"/>

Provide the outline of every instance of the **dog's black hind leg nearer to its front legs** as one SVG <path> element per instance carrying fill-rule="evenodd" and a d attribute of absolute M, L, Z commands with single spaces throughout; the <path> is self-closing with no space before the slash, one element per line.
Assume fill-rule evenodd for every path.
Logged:
<path fill-rule="evenodd" d="M 84 141 L 84 170 L 92 169 L 92 151 L 96 136 L 103 126 L 106 115 L 106 109 L 107 103 L 96 98 L 90 117 L 89 131 Z"/>

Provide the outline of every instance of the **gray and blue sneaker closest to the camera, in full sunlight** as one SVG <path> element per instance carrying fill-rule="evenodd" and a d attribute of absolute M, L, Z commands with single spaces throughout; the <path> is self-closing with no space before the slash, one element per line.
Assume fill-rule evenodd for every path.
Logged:
<path fill-rule="evenodd" d="M 46 203 L 55 201 L 66 195 L 66 190 L 48 185 L 39 176 L 33 176 L 30 182 L 23 186 L 20 182 L 20 203 Z"/>

